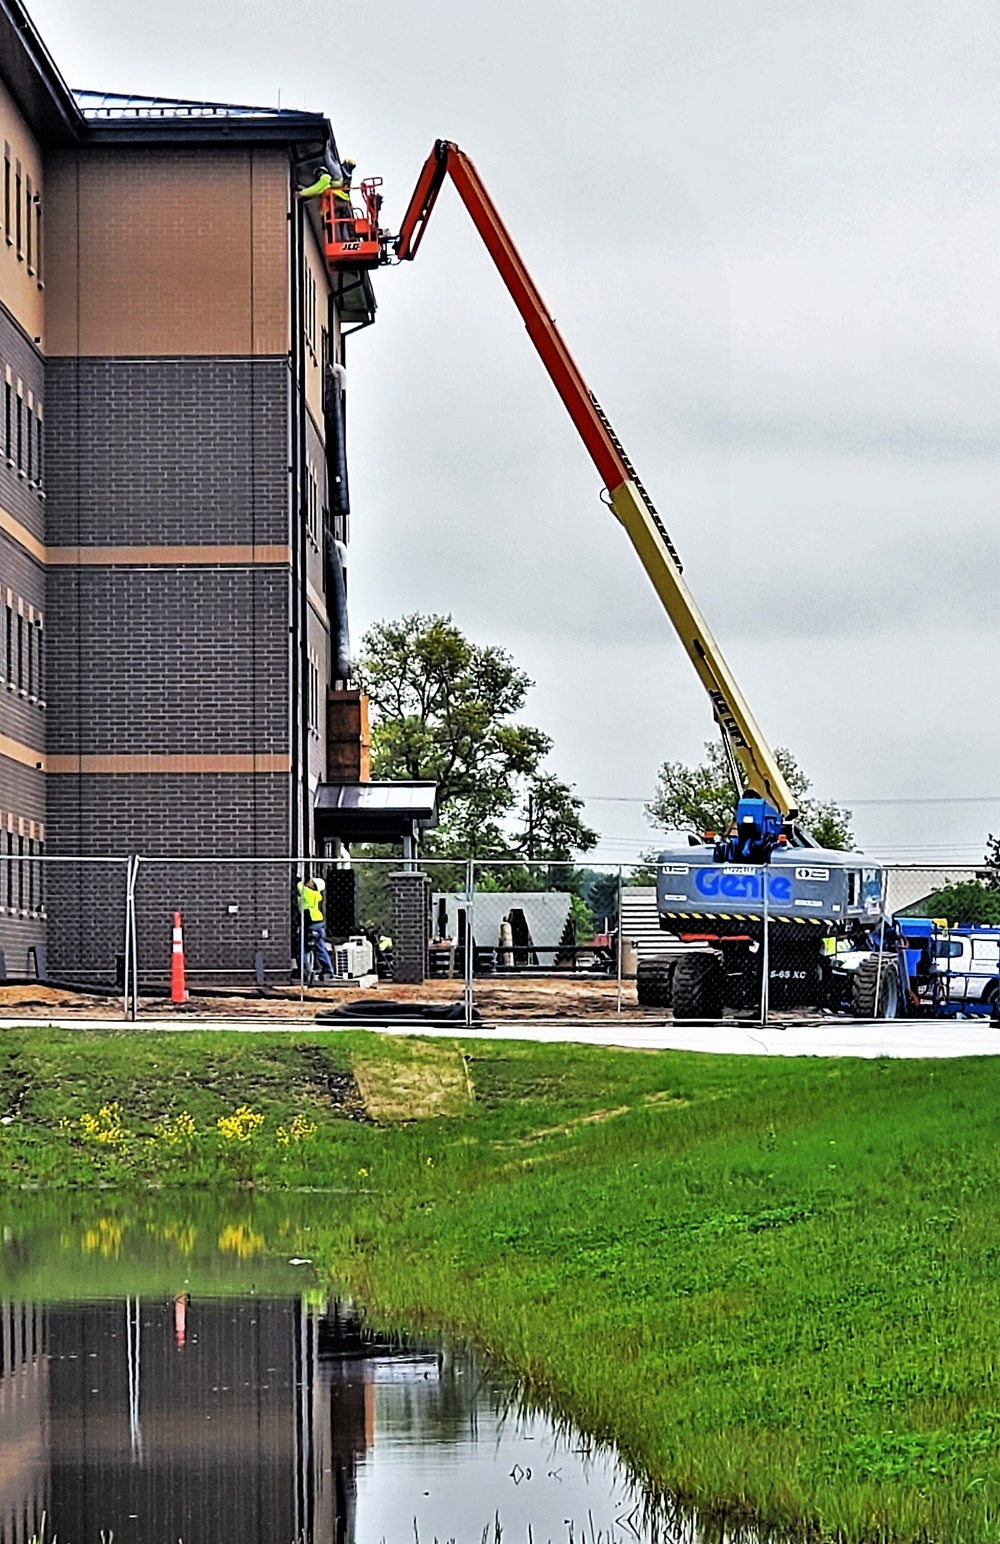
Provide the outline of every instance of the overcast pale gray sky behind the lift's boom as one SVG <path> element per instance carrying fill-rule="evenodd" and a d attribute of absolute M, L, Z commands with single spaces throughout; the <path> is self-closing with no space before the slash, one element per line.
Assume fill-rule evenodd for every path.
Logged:
<path fill-rule="evenodd" d="M 1000 11 L 986 0 L 31 0 L 73 85 L 326 110 L 398 221 L 477 161 L 773 743 L 1000 795 Z M 353 627 L 509 647 L 588 795 L 713 732 L 454 193 L 350 347 Z M 650 840 L 593 803 L 602 854 Z M 992 804 L 861 804 L 975 855 Z"/>

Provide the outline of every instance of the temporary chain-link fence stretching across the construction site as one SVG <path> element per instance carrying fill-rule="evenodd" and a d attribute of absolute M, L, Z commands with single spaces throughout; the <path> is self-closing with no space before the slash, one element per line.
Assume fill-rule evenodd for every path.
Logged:
<path fill-rule="evenodd" d="M 0 851 L 8 1021 L 989 1017 L 998 953 L 995 874 L 861 854 L 577 868 Z"/>

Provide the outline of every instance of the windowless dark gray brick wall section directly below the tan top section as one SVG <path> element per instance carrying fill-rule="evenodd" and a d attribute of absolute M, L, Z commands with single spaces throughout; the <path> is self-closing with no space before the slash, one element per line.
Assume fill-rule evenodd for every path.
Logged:
<path fill-rule="evenodd" d="M 46 364 L 56 547 L 289 540 L 289 361 Z"/>

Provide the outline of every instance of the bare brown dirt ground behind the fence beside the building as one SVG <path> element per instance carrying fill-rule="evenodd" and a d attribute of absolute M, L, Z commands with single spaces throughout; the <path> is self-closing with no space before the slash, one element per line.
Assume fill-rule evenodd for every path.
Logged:
<path fill-rule="evenodd" d="M 313 1019 L 324 1008 L 341 1002 L 461 1002 L 460 980 L 427 980 L 421 987 L 397 987 L 384 980 L 369 988 L 269 987 L 265 991 L 247 988 L 245 993 L 204 994 L 196 991 L 182 1007 L 174 1007 L 168 997 L 144 996 L 139 1002 L 140 1017 L 185 1019 L 238 1017 L 238 1019 Z M 603 977 L 483 977 L 475 982 L 475 1007 L 485 1019 L 605 1019 L 616 1013 L 617 982 Z M 637 1014 L 636 984 L 622 982 L 622 1011 Z M 656 1010 L 662 1014 L 662 1010 Z M 68 991 L 62 987 L 0 987 L 0 1019 L 22 1017 L 46 1019 L 120 1019 L 122 999 Z"/>

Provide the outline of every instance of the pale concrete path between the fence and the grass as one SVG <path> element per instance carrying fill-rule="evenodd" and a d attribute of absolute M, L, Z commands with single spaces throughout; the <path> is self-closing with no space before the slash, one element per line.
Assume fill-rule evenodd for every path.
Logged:
<path fill-rule="evenodd" d="M 130 1030 L 134 1033 L 238 1030 L 245 1034 L 341 1033 L 315 1019 L 287 1017 L 142 1017 L 76 1019 L 57 1014 L 46 1019 L 0 1019 L 0 1031 L 12 1028 Z M 367 1025 L 366 1025 L 367 1027 Z M 627 1050 L 716 1051 L 736 1056 L 997 1056 L 1000 1028 L 989 1019 L 813 1019 L 806 1024 L 704 1024 L 679 1025 L 671 1021 L 623 1017 L 622 1021 L 492 1021 L 466 1030 L 463 1025 L 431 1028 L 412 1019 L 395 1025 L 370 1025 L 387 1034 L 423 1034 L 443 1039 L 540 1041 L 545 1044 L 620 1045 Z M 344 1025 L 353 1028 L 353 1025 Z"/>

